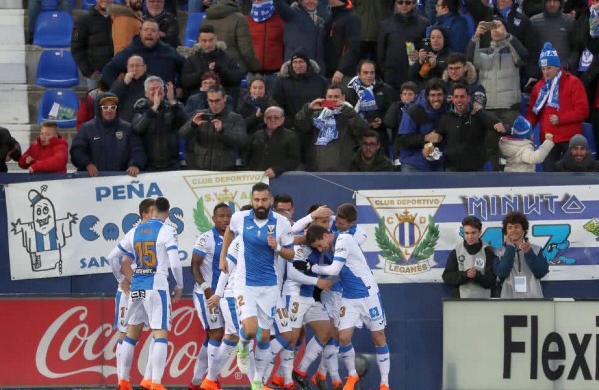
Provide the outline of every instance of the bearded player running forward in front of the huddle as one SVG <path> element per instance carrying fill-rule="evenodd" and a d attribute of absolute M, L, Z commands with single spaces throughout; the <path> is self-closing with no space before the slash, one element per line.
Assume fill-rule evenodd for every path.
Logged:
<path fill-rule="evenodd" d="M 220 269 L 228 272 L 226 250 L 234 235 L 240 238 L 240 251 L 235 271 L 234 292 L 241 322 L 237 365 L 247 373 L 249 345 L 258 339 L 255 351 L 256 376 L 252 390 L 264 388 L 262 377 L 270 361 L 270 328 L 277 306 L 278 256 L 294 257 L 291 224 L 287 218 L 270 211 L 273 202 L 270 186 L 256 183 L 252 187 L 252 210 L 236 212 L 225 231 L 220 253 Z"/>

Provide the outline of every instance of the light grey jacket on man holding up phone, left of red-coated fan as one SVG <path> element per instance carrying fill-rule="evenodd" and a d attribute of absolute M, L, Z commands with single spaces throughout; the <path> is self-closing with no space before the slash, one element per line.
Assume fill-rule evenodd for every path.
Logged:
<path fill-rule="evenodd" d="M 470 41 L 467 57 L 479 71 L 487 109 L 509 109 L 520 103 L 519 68 L 525 65 L 528 51 L 515 36 L 492 41 L 488 48 L 480 48 L 480 39 Z"/>

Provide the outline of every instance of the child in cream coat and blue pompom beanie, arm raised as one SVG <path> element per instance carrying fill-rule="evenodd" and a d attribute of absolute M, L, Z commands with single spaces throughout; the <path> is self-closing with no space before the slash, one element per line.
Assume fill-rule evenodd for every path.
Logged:
<path fill-rule="evenodd" d="M 506 157 L 504 172 L 535 172 L 553 148 L 553 134 L 545 133 L 545 141 L 534 150 L 533 125 L 524 117 L 516 118 L 512 135 L 501 137 L 499 150 Z"/>

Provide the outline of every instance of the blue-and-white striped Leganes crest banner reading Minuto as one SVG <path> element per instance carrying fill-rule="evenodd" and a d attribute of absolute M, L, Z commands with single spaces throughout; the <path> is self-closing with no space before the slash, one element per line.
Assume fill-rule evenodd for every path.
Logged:
<path fill-rule="evenodd" d="M 464 217 L 480 218 L 483 241 L 498 247 L 501 220 L 521 211 L 530 242 L 549 261 L 543 280 L 595 279 L 598 193 L 597 185 L 358 191 L 358 224 L 368 233 L 362 250 L 379 283 L 442 282 Z"/>

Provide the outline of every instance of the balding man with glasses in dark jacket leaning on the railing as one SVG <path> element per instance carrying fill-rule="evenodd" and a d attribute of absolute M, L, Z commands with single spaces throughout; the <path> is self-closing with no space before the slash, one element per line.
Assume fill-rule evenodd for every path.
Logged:
<path fill-rule="evenodd" d="M 285 112 L 270 106 L 264 112 L 266 128 L 253 133 L 247 141 L 247 170 L 263 170 L 269 178 L 295 170 L 299 165 L 299 139 L 283 127 Z"/>

